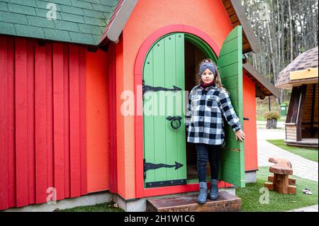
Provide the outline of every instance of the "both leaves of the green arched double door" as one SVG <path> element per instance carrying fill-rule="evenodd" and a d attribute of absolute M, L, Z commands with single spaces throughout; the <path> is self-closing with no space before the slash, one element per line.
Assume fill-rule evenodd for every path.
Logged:
<path fill-rule="evenodd" d="M 196 37 L 172 33 L 152 45 L 143 68 L 143 140 L 146 188 L 186 183 L 186 133 L 184 126 L 184 40 Z M 207 45 L 207 44 L 205 44 Z M 205 46 L 201 50 L 205 51 Z M 207 46 L 206 46 L 207 49 Z M 205 55 L 213 56 L 211 52 Z M 213 58 L 213 57 L 211 57 Z M 242 115 L 242 27 L 225 38 L 217 65 L 223 85 L 240 121 Z M 188 97 L 186 97 L 188 99 Z M 181 126 L 173 129 L 167 117 L 180 117 Z M 245 186 L 244 143 L 235 140 L 225 122 L 226 145 L 220 157 L 220 180 Z M 242 123 L 243 125 L 243 123 Z"/>

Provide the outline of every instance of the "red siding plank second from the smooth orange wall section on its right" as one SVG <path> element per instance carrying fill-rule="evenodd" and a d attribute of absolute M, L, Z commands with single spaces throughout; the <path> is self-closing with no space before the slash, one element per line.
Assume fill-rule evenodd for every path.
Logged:
<path fill-rule="evenodd" d="M 69 45 L 69 146 L 71 197 L 80 196 L 79 47 Z"/>

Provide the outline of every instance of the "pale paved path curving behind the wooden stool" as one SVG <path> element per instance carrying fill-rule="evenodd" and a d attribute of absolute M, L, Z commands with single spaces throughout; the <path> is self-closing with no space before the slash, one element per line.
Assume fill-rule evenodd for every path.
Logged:
<path fill-rule="evenodd" d="M 257 149 L 258 149 L 258 166 L 270 166 L 268 162 L 270 157 L 277 157 L 282 159 L 289 159 L 293 166 L 293 175 L 300 176 L 312 181 L 318 181 L 318 162 L 313 162 L 296 154 L 292 154 L 276 145 L 272 145 L 266 140 L 284 140 L 284 129 L 281 129 L 279 122 L 279 129 L 267 130 L 264 129 L 263 124 L 257 121 Z"/>

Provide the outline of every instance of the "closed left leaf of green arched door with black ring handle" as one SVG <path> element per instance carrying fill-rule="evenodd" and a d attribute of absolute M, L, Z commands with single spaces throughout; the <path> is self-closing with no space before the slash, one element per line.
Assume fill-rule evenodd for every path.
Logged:
<path fill-rule="evenodd" d="M 152 46 L 143 83 L 145 187 L 186 183 L 184 33 L 169 34 Z M 181 118 L 179 128 L 172 128 L 169 116 Z"/>

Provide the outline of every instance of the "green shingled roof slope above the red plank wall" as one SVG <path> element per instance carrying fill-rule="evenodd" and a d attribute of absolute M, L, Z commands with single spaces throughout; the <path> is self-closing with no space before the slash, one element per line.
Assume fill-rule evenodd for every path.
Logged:
<path fill-rule="evenodd" d="M 119 1 L 0 0 L 0 34 L 99 45 Z M 56 19 L 47 19 L 48 4 Z"/>

